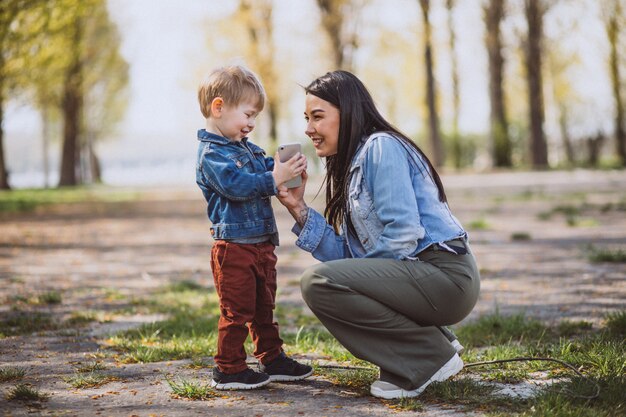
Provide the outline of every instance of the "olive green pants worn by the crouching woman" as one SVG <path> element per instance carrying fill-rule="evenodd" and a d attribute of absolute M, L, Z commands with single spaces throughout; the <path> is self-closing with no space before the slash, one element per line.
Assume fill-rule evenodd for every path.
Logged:
<path fill-rule="evenodd" d="M 304 300 L 328 331 L 354 356 L 380 367 L 381 380 L 407 390 L 454 356 L 438 326 L 465 318 L 480 291 L 471 253 L 428 251 L 419 258 L 324 262 L 301 280 Z"/>

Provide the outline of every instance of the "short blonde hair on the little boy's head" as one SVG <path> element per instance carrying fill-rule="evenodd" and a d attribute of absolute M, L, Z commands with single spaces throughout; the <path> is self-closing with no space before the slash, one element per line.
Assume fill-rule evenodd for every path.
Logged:
<path fill-rule="evenodd" d="M 259 78 L 241 65 L 216 68 L 200 83 L 198 101 L 200 111 L 207 119 L 211 116 L 211 103 L 221 97 L 226 106 L 237 106 L 244 101 L 256 101 L 260 112 L 265 106 L 265 89 Z"/>

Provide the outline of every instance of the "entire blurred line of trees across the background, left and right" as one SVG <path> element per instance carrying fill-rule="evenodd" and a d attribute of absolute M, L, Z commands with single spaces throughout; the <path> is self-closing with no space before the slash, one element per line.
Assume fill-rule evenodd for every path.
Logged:
<path fill-rule="evenodd" d="M 231 1 L 236 5 L 232 14 L 211 25 L 212 31 L 217 28 L 218 33 L 228 33 L 228 36 L 221 36 L 218 42 L 215 32 L 207 34 L 209 48 L 214 55 L 243 56 L 260 75 L 268 94 L 268 107 L 264 112 L 269 121 L 268 135 L 275 144 L 278 125 L 286 118 L 282 114 L 284 100 L 281 100 L 280 77 L 285 68 L 276 58 L 274 12 L 280 2 Z M 614 143 L 610 152 L 612 161 L 615 165 L 626 166 L 626 35 L 623 33 L 626 0 L 604 0 L 599 5 L 599 15 L 589 16 L 602 22 L 606 34 L 606 71 L 613 95 L 613 128 L 611 132 L 598 129 L 597 134 L 587 134 L 584 138 L 575 137 L 571 131 L 576 94 L 567 76 L 578 65 L 579 57 L 576 52 L 561 48 L 558 40 L 547 37 L 545 23 L 550 13 L 559 13 L 561 5 L 584 9 L 594 0 L 477 2 L 482 22 L 476 24 L 482 26 L 484 46 L 480 52 L 487 57 L 488 71 L 486 88 L 490 114 L 486 144 L 477 144 L 475 137 L 463 135 L 459 129 L 463 79 L 457 42 L 461 34 L 457 33 L 456 22 L 458 3 L 463 0 L 414 0 L 419 10 L 414 25 L 418 28 L 420 40 L 417 46 L 399 36 L 397 31 L 382 27 L 375 28 L 378 30 L 375 42 L 363 36 L 363 11 L 375 0 L 310 1 L 319 12 L 319 21 L 315 24 L 319 24 L 323 35 L 316 38 L 315 44 L 319 43 L 318 39 L 323 39 L 327 45 L 324 58 L 328 69 L 346 69 L 362 78 L 371 75 L 377 82 L 390 86 L 400 84 L 394 78 L 402 78 L 404 82 L 407 77 L 413 77 L 404 88 L 422 94 L 416 110 L 423 114 L 423 136 L 428 139 L 428 149 L 436 165 L 471 166 L 477 148 L 483 146 L 488 148 L 489 165 L 497 168 L 529 166 L 546 169 L 551 164 L 550 156 L 553 156 L 549 152 L 562 153 L 556 158 L 559 166 L 595 166 L 599 163 L 602 145 L 610 139 Z M 384 4 L 394 7 L 392 2 Z M 445 13 L 443 29 L 433 27 L 433 11 Z M 512 35 L 504 33 L 505 26 L 513 27 Z M 575 31 L 576 27 L 572 26 L 571 30 Z M 445 31 L 445 44 L 441 36 L 434 36 L 435 31 Z M 20 97 L 33 104 L 42 118 L 44 172 L 48 172 L 51 130 L 59 128 L 62 130 L 59 185 L 99 181 L 94 144 L 121 119 L 126 108 L 125 87 L 128 83 L 128 64 L 119 53 L 120 37 L 109 19 L 106 0 L 1 0 L 0 46 L 0 122 L 8 99 Z M 356 57 L 362 48 L 369 48 L 376 56 L 359 65 Z M 446 109 L 447 119 L 442 118 L 442 80 L 437 79 L 437 74 L 441 78 L 441 72 L 437 72 L 436 61 L 443 54 L 448 54 L 450 62 L 450 72 L 446 76 L 449 79 L 445 80 L 451 85 L 447 93 L 451 96 L 447 100 L 450 103 L 450 109 Z M 319 53 L 316 58 L 318 56 Z M 387 56 L 395 56 L 402 62 L 391 62 Z M 412 62 L 421 69 L 413 71 Z M 378 76 L 378 66 L 396 65 L 398 69 L 394 74 Z M 518 72 L 515 75 L 523 76 L 523 85 L 516 84 L 517 79 L 511 75 L 513 71 Z M 413 75 L 417 72 L 423 75 Z M 392 120 L 401 100 L 403 98 L 397 94 L 387 97 L 385 110 Z M 549 146 L 550 138 L 546 134 L 547 110 L 557 114 L 558 118 L 561 143 L 556 148 Z M 520 117 L 521 111 L 525 115 Z M 3 152 L 2 139 L 0 124 L 0 188 L 8 188 L 7 156 Z"/>

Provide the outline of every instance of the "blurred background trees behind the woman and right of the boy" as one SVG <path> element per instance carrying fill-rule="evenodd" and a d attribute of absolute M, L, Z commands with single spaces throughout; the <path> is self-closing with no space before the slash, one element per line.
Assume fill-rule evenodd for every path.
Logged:
<path fill-rule="evenodd" d="M 274 59 L 277 39 L 272 35 L 274 26 L 272 10 L 277 6 L 276 0 L 233 0 L 238 7 L 227 19 L 212 22 L 219 27 L 219 31 L 228 30 L 235 33 L 231 42 L 221 45 L 222 50 L 215 47 L 213 35 L 208 35 L 208 47 L 218 56 L 228 57 L 241 55 L 248 65 L 255 70 L 268 87 L 270 102 L 274 105 L 270 109 L 270 137 L 277 140 L 276 124 L 281 120 L 280 94 L 278 93 L 279 77 L 277 68 L 280 63 Z M 399 33 L 377 28 L 381 46 L 376 49 L 375 56 L 371 56 L 364 66 L 355 63 L 355 56 L 362 47 L 367 45 L 362 35 L 361 12 L 375 0 L 315 0 L 319 11 L 319 26 L 321 33 L 329 45 L 327 61 L 329 69 L 340 68 L 353 71 L 358 75 L 367 75 L 377 65 L 397 66 L 398 78 L 406 68 L 399 62 L 393 62 L 393 50 L 400 50 L 401 54 L 414 55 L 422 65 L 423 80 L 415 77 L 408 89 L 417 87 L 423 93 L 422 104 L 424 137 L 428 139 L 428 148 L 432 160 L 438 166 L 447 165 L 462 168 L 473 163 L 476 154 L 474 138 L 463 136 L 459 131 L 460 118 L 460 68 L 457 39 L 459 34 L 455 16 L 458 3 L 462 0 L 414 0 L 419 6 L 420 14 L 415 16 L 415 26 L 419 26 L 421 39 L 419 48 L 407 47 L 400 39 Z M 592 0 L 589 0 L 592 1 Z M 497 168 L 512 168 L 528 166 L 533 169 L 547 169 L 550 167 L 549 141 L 545 129 L 546 123 L 546 96 L 549 97 L 550 109 L 556 112 L 559 121 L 559 140 L 562 142 L 553 147 L 558 155 L 558 165 L 561 167 L 596 166 L 599 163 L 599 152 L 602 145 L 611 138 L 614 142 L 610 160 L 614 166 L 626 165 L 626 137 L 624 134 L 624 100 L 625 87 L 623 71 L 626 66 L 626 35 L 622 28 L 625 23 L 625 0 L 605 0 L 600 3 L 600 14 L 585 18 L 601 20 L 610 51 L 606 57 L 606 71 L 610 76 L 613 94 L 613 131 L 603 132 L 598 125 L 598 132 L 586 134 L 585 137 L 572 138 L 571 114 L 576 103 L 574 88 L 568 79 L 569 72 L 579 64 L 579 57 L 575 52 L 566 50 L 559 45 L 558 40 L 549 39 L 545 34 L 545 22 L 550 13 L 562 13 L 560 5 L 578 7 L 584 10 L 586 1 L 571 2 L 568 0 L 480 0 L 482 24 L 484 34 L 484 53 L 487 57 L 488 70 L 488 97 L 490 103 L 488 155 L 490 166 Z M 385 6 L 395 7 L 392 2 L 385 2 Z M 445 10 L 447 19 L 447 45 L 436 42 L 432 27 L 433 9 Z M 583 12 L 584 13 L 584 12 Z M 552 16 L 554 18 L 554 16 Z M 558 16 L 557 16 L 558 17 Z M 513 35 L 505 39 L 503 27 L 512 26 Z M 571 23 L 569 30 L 577 28 Z M 210 25 L 212 28 L 214 25 Z M 441 28 L 437 28 L 441 31 Z M 213 29 L 211 29 L 213 30 Z M 395 38 L 386 41 L 387 38 Z M 317 42 L 317 40 L 316 40 Z M 438 52 L 436 54 L 435 52 Z M 451 120 L 445 124 L 441 122 L 442 99 L 441 79 L 436 77 L 436 56 L 449 54 L 450 74 L 445 80 L 451 87 L 451 99 L 448 100 L 451 109 Z M 374 55 L 374 54 L 372 54 Z M 518 66 L 519 68 L 517 68 Z M 405 65 L 406 67 L 406 65 Z M 511 67 L 515 67 L 513 70 Z M 518 73 L 513 72 L 517 71 Z M 514 85 L 512 78 L 519 76 L 523 79 L 522 86 Z M 373 77 L 376 78 L 376 77 Z M 380 77 L 377 83 L 384 83 Z M 418 85 L 418 83 L 420 83 Z M 421 84 L 423 83 L 423 84 Z M 521 88 L 520 88 L 521 87 Z M 523 91 L 522 91 L 523 89 Z M 390 100 L 391 101 L 391 100 Z M 394 113 L 389 103 L 387 113 Z M 511 116 L 509 107 L 514 107 Z M 525 115 L 520 118 L 520 108 L 525 108 Z M 587 116 L 587 115 L 585 115 Z M 591 116 L 589 116 L 591 117 Z M 580 136 L 580 135 L 579 135 Z M 554 141 L 554 140 L 553 140 Z M 554 163 L 553 163 L 554 165 Z"/>

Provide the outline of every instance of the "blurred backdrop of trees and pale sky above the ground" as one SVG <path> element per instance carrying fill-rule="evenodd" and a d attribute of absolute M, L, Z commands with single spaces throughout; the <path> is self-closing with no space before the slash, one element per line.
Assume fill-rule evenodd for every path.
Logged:
<path fill-rule="evenodd" d="M 252 138 L 270 151 L 312 155 L 301 87 L 343 68 L 448 170 L 626 159 L 617 0 L 3 4 L 0 171 L 16 187 L 193 183 L 197 85 L 234 62 L 265 83 Z"/>

